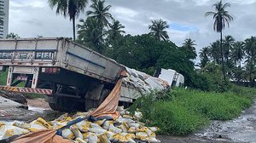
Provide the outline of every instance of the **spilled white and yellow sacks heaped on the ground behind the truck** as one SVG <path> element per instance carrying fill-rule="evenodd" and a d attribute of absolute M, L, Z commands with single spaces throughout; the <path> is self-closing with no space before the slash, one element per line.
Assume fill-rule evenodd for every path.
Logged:
<path fill-rule="evenodd" d="M 98 120 L 94 123 L 83 120 L 73 124 L 70 128 L 63 129 L 61 136 L 78 143 L 109 143 L 109 142 L 160 142 L 155 137 L 156 127 L 145 127 L 138 120 L 143 116 L 141 112 L 135 112 L 131 116 L 123 107 L 118 107 L 120 116 L 116 120 Z M 89 112 L 77 112 L 70 116 L 67 113 L 56 118 L 54 121 L 46 122 L 38 117 L 32 123 L 13 122 L 0 123 L 0 139 L 8 138 L 15 134 L 26 134 L 42 129 L 61 129 L 70 121 L 78 117 L 86 117 Z M 1 137 L 2 136 L 2 137 Z"/>

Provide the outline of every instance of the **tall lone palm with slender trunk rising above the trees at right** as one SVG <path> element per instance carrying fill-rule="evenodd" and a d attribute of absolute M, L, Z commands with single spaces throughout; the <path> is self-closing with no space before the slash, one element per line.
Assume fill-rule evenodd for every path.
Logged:
<path fill-rule="evenodd" d="M 206 13 L 206 16 L 213 16 L 214 23 L 213 23 L 213 30 L 220 33 L 220 53 L 221 53 L 221 60 L 222 60 L 222 72 L 225 79 L 225 70 L 224 70 L 224 56 L 223 56 L 223 49 L 222 49 L 222 31 L 224 30 L 226 24 L 230 26 L 230 21 L 233 20 L 233 17 L 229 14 L 228 11 L 225 9 L 230 7 L 230 3 L 222 3 L 220 0 L 218 3 L 213 4 L 215 11 L 209 11 Z"/>

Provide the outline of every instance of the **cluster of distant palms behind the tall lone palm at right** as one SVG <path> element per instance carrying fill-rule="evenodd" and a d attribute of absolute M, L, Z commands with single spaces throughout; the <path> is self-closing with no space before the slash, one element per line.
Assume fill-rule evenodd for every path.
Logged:
<path fill-rule="evenodd" d="M 221 65 L 221 54 L 218 49 L 219 41 L 211 43 L 207 48 L 201 49 L 201 72 L 206 73 L 207 66 Z M 224 38 L 224 66 L 229 79 L 237 84 L 255 86 L 256 79 L 256 37 L 244 41 L 236 41 L 233 37 Z M 248 83 L 248 84 L 247 84 Z"/>

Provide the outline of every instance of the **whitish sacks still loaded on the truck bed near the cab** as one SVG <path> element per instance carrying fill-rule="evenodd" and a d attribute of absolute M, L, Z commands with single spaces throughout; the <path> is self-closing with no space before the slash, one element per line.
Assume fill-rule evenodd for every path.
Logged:
<path fill-rule="evenodd" d="M 123 83 L 131 84 L 139 89 L 141 94 L 150 94 L 154 90 L 162 91 L 170 87 L 169 83 L 157 77 L 151 77 L 144 72 L 126 67 L 127 77 L 123 78 Z"/>

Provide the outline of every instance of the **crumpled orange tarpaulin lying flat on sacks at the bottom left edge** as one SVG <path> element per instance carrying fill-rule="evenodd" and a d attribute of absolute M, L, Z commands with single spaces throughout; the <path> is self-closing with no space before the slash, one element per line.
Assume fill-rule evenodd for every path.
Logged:
<path fill-rule="evenodd" d="M 45 129 L 24 134 L 12 141 L 12 143 L 72 143 L 72 141 L 56 135 L 56 131 L 53 129 Z"/>

